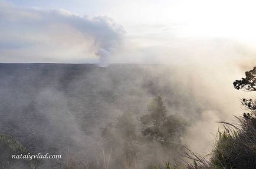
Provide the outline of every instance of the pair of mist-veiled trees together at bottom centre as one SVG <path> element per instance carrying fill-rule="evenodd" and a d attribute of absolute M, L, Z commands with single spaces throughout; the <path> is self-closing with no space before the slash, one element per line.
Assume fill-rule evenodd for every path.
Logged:
<path fill-rule="evenodd" d="M 132 113 L 126 112 L 116 123 L 103 129 L 104 152 L 109 157 L 107 166 L 135 169 L 154 168 L 159 164 L 157 168 L 170 167 L 170 163 L 162 161 L 173 160 L 173 152 L 177 153 L 182 146 L 180 137 L 185 133 L 185 120 L 168 116 L 160 96 L 152 99 L 147 110 L 139 124 L 134 122 Z"/>

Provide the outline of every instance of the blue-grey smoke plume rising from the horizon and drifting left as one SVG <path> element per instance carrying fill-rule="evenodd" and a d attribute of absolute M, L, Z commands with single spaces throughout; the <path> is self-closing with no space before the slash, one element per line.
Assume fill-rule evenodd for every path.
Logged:
<path fill-rule="evenodd" d="M 0 62 L 97 62 L 100 51 L 114 51 L 125 34 L 107 16 L 18 8 L 5 1 L 0 18 Z"/>

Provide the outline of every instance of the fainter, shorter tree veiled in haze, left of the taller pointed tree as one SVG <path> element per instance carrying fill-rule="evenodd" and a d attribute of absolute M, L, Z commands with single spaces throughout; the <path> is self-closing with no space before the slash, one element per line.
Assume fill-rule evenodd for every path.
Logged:
<path fill-rule="evenodd" d="M 129 112 L 120 116 L 116 123 L 109 123 L 101 131 L 104 138 L 104 151 L 109 153 L 110 168 L 137 168 L 136 124 Z"/>

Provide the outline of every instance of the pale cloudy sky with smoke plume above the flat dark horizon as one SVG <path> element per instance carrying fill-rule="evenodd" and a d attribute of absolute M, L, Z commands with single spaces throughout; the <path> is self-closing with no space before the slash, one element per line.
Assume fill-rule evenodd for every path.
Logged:
<path fill-rule="evenodd" d="M 0 62 L 252 59 L 254 1 L 0 0 Z"/>

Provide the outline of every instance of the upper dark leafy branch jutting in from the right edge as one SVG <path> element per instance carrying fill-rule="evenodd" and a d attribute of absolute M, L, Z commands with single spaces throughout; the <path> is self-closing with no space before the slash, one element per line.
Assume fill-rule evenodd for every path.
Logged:
<path fill-rule="evenodd" d="M 242 77 L 241 80 L 235 80 L 233 85 L 237 90 L 241 89 L 246 92 L 256 91 L 256 67 L 245 72 L 245 77 Z"/>

